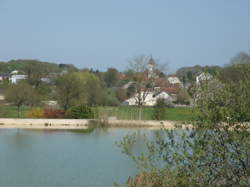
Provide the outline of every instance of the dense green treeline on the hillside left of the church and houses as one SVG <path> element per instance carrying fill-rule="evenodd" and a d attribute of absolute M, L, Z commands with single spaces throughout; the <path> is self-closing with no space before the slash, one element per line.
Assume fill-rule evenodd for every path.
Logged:
<path fill-rule="evenodd" d="M 44 106 L 50 101 L 56 101 L 60 108 L 67 111 L 83 104 L 118 106 L 127 98 L 126 90 L 120 87 L 129 81 L 129 76 L 115 68 L 100 72 L 38 60 L 0 63 L 0 72 L 11 73 L 14 70 L 26 78 L 17 84 L 2 81 L 1 90 L 6 101 L 17 106 L 19 113 L 21 106 Z"/>

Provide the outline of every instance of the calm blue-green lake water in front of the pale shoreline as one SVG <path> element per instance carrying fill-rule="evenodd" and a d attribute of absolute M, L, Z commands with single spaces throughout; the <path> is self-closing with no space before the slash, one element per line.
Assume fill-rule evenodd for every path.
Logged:
<path fill-rule="evenodd" d="M 111 187 L 137 173 L 115 144 L 138 129 L 69 131 L 0 130 L 1 187 Z M 140 148 L 140 146 L 138 146 Z"/>

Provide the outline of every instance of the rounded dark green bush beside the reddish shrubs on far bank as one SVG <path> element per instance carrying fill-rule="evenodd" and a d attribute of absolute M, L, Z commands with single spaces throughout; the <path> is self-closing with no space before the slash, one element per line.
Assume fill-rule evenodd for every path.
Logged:
<path fill-rule="evenodd" d="M 69 110 L 68 115 L 74 119 L 93 119 L 94 111 L 87 105 L 79 105 L 72 107 Z"/>

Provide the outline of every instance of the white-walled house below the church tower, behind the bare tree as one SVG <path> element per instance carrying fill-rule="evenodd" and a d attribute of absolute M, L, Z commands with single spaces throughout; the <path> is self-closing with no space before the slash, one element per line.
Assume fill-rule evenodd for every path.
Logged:
<path fill-rule="evenodd" d="M 141 93 L 142 95 L 145 93 Z M 130 106 L 135 106 L 138 104 L 138 94 L 127 99 L 124 103 Z M 144 106 L 154 106 L 157 103 L 157 99 L 166 99 L 172 101 L 173 98 L 165 91 L 159 93 L 148 92 L 146 93 L 146 98 L 144 100 Z"/>

